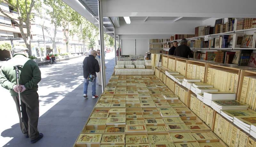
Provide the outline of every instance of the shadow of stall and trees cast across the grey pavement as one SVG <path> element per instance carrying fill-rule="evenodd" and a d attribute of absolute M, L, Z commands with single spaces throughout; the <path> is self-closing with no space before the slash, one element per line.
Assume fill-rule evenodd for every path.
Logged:
<path fill-rule="evenodd" d="M 108 83 L 111 75 L 114 71 L 115 58 L 107 59 L 106 64 L 106 81 Z M 61 63 L 62 64 L 62 63 Z M 40 67 L 48 68 L 49 66 Z M 60 66 L 54 68 L 54 72 L 46 73 L 47 78 L 44 78 L 40 83 L 40 86 L 50 87 L 68 87 L 72 88 L 73 85 L 80 83 L 79 76 L 83 75 L 82 63 L 77 64 L 73 72 L 65 72 L 70 66 Z M 60 75 L 57 78 L 53 78 L 53 75 Z M 63 79 L 62 77 L 65 77 Z M 81 79 L 81 78 L 80 78 Z M 72 82 L 66 82 L 66 81 Z M 80 82 L 78 82 L 80 81 Z M 76 89 L 71 92 L 54 92 L 49 93 L 47 96 L 40 96 L 40 99 L 44 101 L 44 104 L 52 103 L 54 97 L 63 96 L 57 104 L 52 106 L 47 112 L 39 117 L 38 130 L 44 134 L 44 137 L 36 144 L 31 144 L 29 138 L 25 138 L 20 131 L 19 123 L 14 124 L 12 128 L 6 129 L 1 133 L 3 137 L 13 137 L 4 146 L 19 146 L 19 147 L 46 147 L 46 146 L 72 146 L 80 131 L 82 131 L 94 105 L 98 99 L 92 99 L 90 97 L 92 93 L 91 83 L 88 86 L 88 99 L 83 97 L 83 84 L 80 84 Z M 49 88 L 50 88 L 49 87 Z M 96 94 L 102 93 L 101 86 L 96 84 Z M 45 100 L 44 100 L 45 98 Z"/>

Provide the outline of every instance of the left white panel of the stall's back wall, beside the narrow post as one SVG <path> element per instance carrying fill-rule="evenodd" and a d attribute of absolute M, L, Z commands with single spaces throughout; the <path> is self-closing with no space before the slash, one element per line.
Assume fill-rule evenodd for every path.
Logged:
<path fill-rule="evenodd" d="M 121 52 L 122 55 L 135 55 L 135 40 L 134 39 L 122 39 L 121 40 Z"/>

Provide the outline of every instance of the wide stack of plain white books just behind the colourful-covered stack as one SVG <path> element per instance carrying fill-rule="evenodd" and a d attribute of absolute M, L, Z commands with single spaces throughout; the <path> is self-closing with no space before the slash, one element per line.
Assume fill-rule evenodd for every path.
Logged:
<path fill-rule="evenodd" d="M 236 100 L 236 94 L 232 92 L 204 92 L 204 104 L 210 106 L 212 100 Z"/>

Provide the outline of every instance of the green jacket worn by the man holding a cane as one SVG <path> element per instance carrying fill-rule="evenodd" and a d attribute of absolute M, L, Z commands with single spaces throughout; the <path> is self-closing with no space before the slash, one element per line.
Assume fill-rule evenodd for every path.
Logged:
<path fill-rule="evenodd" d="M 18 67 L 20 72 L 19 83 L 24 85 L 26 90 L 20 95 L 30 94 L 38 90 L 38 83 L 41 81 L 41 71 L 36 62 L 27 58 L 24 54 L 15 54 L 13 58 L 8 60 L 0 69 L 0 84 L 7 90 L 10 90 L 12 96 L 18 96 L 18 93 L 13 91 L 13 85 L 16 85 L 16 73 L 13 66 Z"/>

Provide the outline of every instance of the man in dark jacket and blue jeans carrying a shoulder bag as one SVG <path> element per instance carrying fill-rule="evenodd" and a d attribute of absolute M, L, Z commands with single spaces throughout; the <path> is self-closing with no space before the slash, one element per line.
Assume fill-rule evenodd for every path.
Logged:
<path fill-rule="evenodd" d="M 93 74 L 96 78 L 96 73 L 100 72 L 100 66 L 98 61 L 95 59 L 97 55 L 96 50 L 92 50 L 88 57 L 84 58 L 83 61 L 83 71 L 84 71 L 84 98 L 88 98 L 87 89 L 88 89 L 88 76 L 89 74 Z M 92 81 L 92 98 L 99 97 L 96 95 L 96 80 Z"/>

